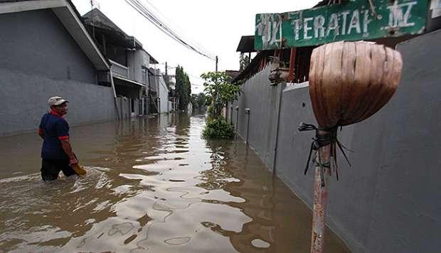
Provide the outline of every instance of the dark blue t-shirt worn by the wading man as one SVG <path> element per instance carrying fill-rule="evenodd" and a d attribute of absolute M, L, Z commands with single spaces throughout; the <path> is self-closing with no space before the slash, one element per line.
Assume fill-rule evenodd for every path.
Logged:
<path fill-rule="evenodd" d="M 44 141 L 41 148 L 41 158 L 43 159 L 68 159 L 61 141 L 69 139 L 69 124 L 63 117 L 56 112 L 48 112 L 41 118 L 40 128 L 43 132 Z"/>

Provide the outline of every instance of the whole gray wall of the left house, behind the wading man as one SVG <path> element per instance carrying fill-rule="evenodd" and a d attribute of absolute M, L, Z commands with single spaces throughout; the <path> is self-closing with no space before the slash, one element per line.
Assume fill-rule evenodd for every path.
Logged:
<path fill-rule="evenodd" d="M 0 136 L 36 131 L 55 95 L 70 125 L 115 119 L 112 88 L 51 9 L 1 14 L 0 35 Z"/>

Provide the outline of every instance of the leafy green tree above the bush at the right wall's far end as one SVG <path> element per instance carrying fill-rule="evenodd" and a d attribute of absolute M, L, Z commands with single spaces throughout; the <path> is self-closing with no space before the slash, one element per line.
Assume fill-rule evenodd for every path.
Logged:
<path fill-rule="evenodd" d="M 209 113 L 214 119 L 221 118 L 221 112 L 227 102 L 238 99 L 240 94 L 239 85 L 231 83 L 231 77 L 225 72 L 206 72 L 203 78 L 203 91 L 209 102 Z M 212 111 L 212 112 L 210 112 Z"/>

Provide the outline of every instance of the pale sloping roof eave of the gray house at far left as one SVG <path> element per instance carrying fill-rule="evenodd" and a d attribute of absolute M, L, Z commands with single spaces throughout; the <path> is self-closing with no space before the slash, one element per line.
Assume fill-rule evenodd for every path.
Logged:
<path fill-rule="evenodd" d="M 66 31 L 80 46 L 97 70 L 109 70 L 110 66 L 83 25 L 80 14 L 70 0 L 0 0 L 0 14 L 51 9 Z"/>

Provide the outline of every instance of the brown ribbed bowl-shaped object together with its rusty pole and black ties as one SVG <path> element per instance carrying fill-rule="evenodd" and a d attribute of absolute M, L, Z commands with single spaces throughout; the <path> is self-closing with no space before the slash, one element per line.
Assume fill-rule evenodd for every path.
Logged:
<path fill-rule="evenodd" d="M 300 131 L 316 130 L 309 151 L 309 158 L 312 150 L 318 153 L 314 175 L 311 252 L 324 252 L 326 181 L 331 173 L 331 156 L 334 157 L 337 173 L 336 146 L 341 149 L 336 139 L 336 129 L 361 122 L 378 112 L 397 89 L 402 67 L 403 61 L 398 51 L 375 43 L 340 41 L 312 51 L 309 95 L 319 127 L 310 124 L 299 126 Z"/>

